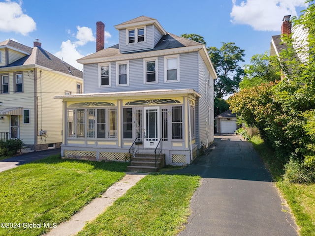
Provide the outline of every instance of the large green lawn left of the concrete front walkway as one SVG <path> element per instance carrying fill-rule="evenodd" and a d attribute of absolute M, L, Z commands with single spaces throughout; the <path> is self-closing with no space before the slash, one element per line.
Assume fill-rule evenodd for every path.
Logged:
<path fill-rule="evenodd" d="M 55 155 L 0 173 L 0 221 L 16 227 L 1 225 L 0 235 L 43 234 L 46 228 L 30 228 L 30 224 L 53 225 L 69 219 L 124 177 L 126 166 L 63 160 Z"/>

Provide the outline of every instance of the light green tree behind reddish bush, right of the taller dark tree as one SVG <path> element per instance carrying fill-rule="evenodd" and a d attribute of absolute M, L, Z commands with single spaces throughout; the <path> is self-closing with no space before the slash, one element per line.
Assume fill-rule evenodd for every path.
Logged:
<path fill-rule="evenodd" d="M 251 88 L 262 83 L 280 81 L 281 70 L 276 57 L 265 54 L 252 56 L 251 64 L 244 66 L 245 77 L 240 83 L 240 89 Z"/>

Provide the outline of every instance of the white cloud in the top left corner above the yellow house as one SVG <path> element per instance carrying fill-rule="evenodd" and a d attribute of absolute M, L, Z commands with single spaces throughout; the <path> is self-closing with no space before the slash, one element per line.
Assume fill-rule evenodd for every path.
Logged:
<path fill-rule="evenodd" d="M 36 29 L 35 21 L 23 13 L 21 5 L 22 2 L 10 0 L 0 2 L 0 31 L 13 31 L 25 36 Z"/>

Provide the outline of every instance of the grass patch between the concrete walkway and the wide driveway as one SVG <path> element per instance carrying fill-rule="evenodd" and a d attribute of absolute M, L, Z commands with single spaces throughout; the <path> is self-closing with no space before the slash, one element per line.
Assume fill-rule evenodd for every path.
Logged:
<path fill-rule="evenodd" d="M 175 236 L 187 222 L 199 183 L 198 176 L 146 176 L 78 236 Z"/>

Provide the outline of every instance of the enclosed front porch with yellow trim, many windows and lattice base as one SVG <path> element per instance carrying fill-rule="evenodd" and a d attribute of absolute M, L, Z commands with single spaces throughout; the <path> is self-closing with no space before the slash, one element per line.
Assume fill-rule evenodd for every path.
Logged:
<path fill-rule="evenodd" d="M 192 89 L 61 96 L 64 123 L 62 156 L 129 161 L 135 139 L 139 153 L 153 154 L 163 143 L 166 165 L 186 165 L 197 156 Z M 123 99 L 122 99 L 123 98 Z"/>

